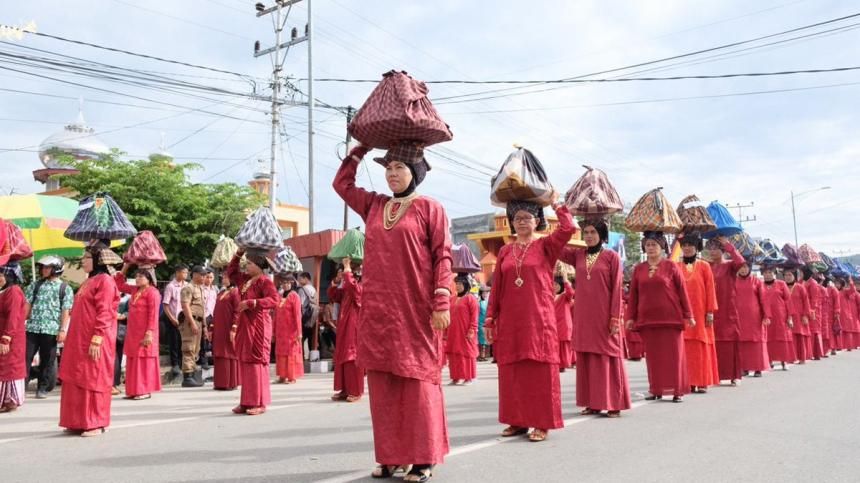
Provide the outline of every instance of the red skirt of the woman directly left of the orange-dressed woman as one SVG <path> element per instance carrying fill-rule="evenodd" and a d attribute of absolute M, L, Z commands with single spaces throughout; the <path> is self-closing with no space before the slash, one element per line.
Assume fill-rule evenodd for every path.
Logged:
<path fill-rule="evenodd" d="M 683 396 L 690 392 L 684 331 L 670 328 L 645 328 L 639 331 L 645 344 L 648 384 L 651 394 L 671 392 Z"/>

